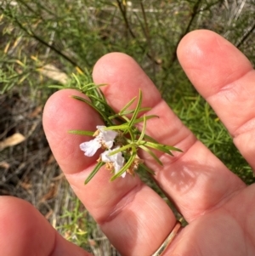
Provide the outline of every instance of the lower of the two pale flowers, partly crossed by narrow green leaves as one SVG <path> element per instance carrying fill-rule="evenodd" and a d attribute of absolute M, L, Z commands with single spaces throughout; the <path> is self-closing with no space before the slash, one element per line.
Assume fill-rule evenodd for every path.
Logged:
<path fill-rule="evenodd" d="M 120 148 L 119 146 L 116 146 L 116 148 L 105 151 L 104 153 L 101 154 L 101 161 L 108 163 L 108 168 L 113 167 L 115 174 L 117 174 L 122 169 L 125 159 L 122 156 L 122 152 L 118 152 L 111 156 L 109 155 L 112 151 L 116 151 L 119 148 Z M 125 175 L 126 175 L 126 172 L 122 174 L 122 178 L 124 178 Z"/>

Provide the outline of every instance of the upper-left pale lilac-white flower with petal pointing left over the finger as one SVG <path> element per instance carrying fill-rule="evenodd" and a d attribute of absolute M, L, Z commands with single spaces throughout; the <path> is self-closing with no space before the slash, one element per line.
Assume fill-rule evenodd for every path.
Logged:
<path fill-rule="evenodd" d="M 96 137 L 92 140 L 83 142 L 80 145 L 80 149 L 84 151 L 85 156 L 94 156 L 94 153 L 100 148 L 104 147 L 107 149 L 111 149 L 114 139 L 118 134 L 112 130 L 105 130 L 105 126 L 97 126 L 98 130 L 95 133 Z"/>

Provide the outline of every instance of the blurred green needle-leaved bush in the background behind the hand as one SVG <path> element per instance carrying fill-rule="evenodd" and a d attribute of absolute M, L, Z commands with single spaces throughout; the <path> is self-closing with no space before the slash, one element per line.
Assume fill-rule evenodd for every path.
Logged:
<path fill-rule="evenodd" d="M 60 85 L 66 82 L 73 85 L 77 82 L 84 83 L 90 79 L 88 74 L 102 55 L 114 51 L 126 53 L 139 62 L 173 111 L 197 138 L 201 139 L 235 174 L 238 174 L 247 184 L 251 184 L 254 182 L 251 168 L 236 151 L 232 139 L 218 117 L 185 77 L 178 64 L 176 49 L 181 38 L 189 31 L 209 29 L 218 32 L 235 44 L 254 64 L 254 13 L 255 3 L 252 0 L 51 0 L 43 2 L 2 0 L 0 1 L 2 33 L 0 104 L 4 107 L 4 104 L 13 104 L 13 100 L 16 99 L 14 103 L 19 105 L 21 99 L 26 99 L 28 107 L 25 111 L 31 108 L 37 109 L 54 92 L 54 89 L 48 88 L 49 85 Z M 13 172 L 11 178 L 1 181 L 0 188 L 2 186 L 2 191 L 5 191 L 2 194 L 8 194 L 9 184 L 14 184 L 16 187 L 20 184 L 20 180 L 22 182 L 25 178 L 31 180 L 31 176 L 25 171 L 27 162 L 31 162 L 31 156 L 27 152 L 37 152 L 42 159 L 41 162 L 30 163 L 31 173 L 38 174 L 38 169 L 45 169 L 45 162 L 50 159 L 46 139 L 40 142 L 33 139 L 36 136 L 33 137 L 35 131 L 40 130 L 42 133 L 40 123 L 42 111 L 38 112 L 39 121 L 37 120 L 36 128 L 34 130 L 28 128 L 29 136 L 26 134 L 28 131 L 24 130 L 24 125 L 20 128 L 20 122 L 17 121 L 15 113 L 16 109 L 11 108 L 9 115 L 12 115 L 12 119 L 0 120 L 0 140 L 17 131 L 25 133 L 27 139 L 19 147 L 16 146 L 16 150 L 7 148 L 1 152 L 0 162 L 7 162 L 8 168 Z M 15 121 L 11 122 L 10 120 L 13 119 Z M 27 123 L 27 120 L 23 121 Z M 31 122 L 32 127 L 34 121 Z M 45 153 L 42 154 L 42 152 Z M 25 165 L 22 166 L 24 162 Z M 0 165 L 0 168 L 3 169 L 3 176 L 8 177 L 5 173 L 6 167 Z M 47 165 L 47 168 L 58 169 L 52 162 L 49 166 Z M 55 179 L 54 176 L 58 174 L 56 171 L 51 174 L 52 179 Z M 47 173 L 45 180 L 48 180 L 48 175 Z M 143 177 L 143 179 L 153 186 L 149 178 Z M 8 180 L 11 180 L 11 183 L 8 183 Z M 45 184 L 47 182 L 45 181 Z M 48 183 L 48 186 L 50 185 L 51 183 Z M 64 183 L 60 187 L 65 194 L 71 195 L 71 191 L 68 191 Z M 20 196 L 19 193 L 17 189 L 15 196 Z M 40 196 L 35 194 L 34 199 L 31 199 L 26 193 L 24 194 L 26 196 L 22 195 L 21 197 L 31 201 L 44 215 L 49 213 L 48 209 L 53 209 L 54 213 L 48 219 L 59 226 L 62 234 L 66 234 L 67 229 L 77 230 L 77 222 L 82 221 L 82 218 L 86 219 L 88 215 L 85 210 L 83 210 L 85 215 L 82 217 L 77 215 L 78 211 L 73 211 L 77 213 L 75 216 L 70 215 L 72 209 L 77 208 L 78 203 L 73 199 L 68 202 L 64 200 L 67 212 L 63 214 L 63 206 L 60 203 L 62 197 L 61 200 L 58 196 L 54 197 L 55 200 L 45 199 L 43 203 L 46 207 L 44 205 L 41 209 L 37 205 L 37 198 Z M 73 198 L 73 195 L 68 198 Z M 56 202 L 59 205 L 58 211 Z M 62 218 L 58 215 L 62 215 Z M 78 221 L 77 218 L 81 219 Z M 94 243 L 89 240 L 89 237 L 96 236 L 91 235 L 95 229 L 95 224 L 92 223 L 93 221 L 88 217 L 87 222 L 81 225 L 85 231 L 73 231 L 74 233 L 68 233 L 66 237 L 82 247 L 89 247 L 98 255 L 103 255 L 100 254 L 99 247 L 96 249 Z M 85 228 L 87 225 L 88 230 Z M 82 242 L 81 237 L 84 237 Z M 111 250 L 111 255 L 114 255 L 111 248 L 107 250 Z"/>

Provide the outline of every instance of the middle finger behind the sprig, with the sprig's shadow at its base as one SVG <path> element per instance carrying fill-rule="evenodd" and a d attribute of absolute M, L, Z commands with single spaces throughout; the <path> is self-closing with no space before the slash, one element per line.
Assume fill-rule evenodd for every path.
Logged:
<path fill-rule="evenodd" d="M 174 157 L 162 155 L 163 168 L 147 158 L 146 164 L 156 171 L 157 183 L 173 199 L 185 219 L 195 219 L 244 186 L 184 127 L 132 58 L 125 54 L 107 54 L 94 66 L 93 75 L 96 83 L 109 84 L 102 90 L 116 111 L 141 89 L 143 105 L 152 107 L 147 114 L 159 116 L 147 122 L 147 133 L 163 144 L 184 151 L 175 153 Z"/>

